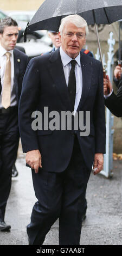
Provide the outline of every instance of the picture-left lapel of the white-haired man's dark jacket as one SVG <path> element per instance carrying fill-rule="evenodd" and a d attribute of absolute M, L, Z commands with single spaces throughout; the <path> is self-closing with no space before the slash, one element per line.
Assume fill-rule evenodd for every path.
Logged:
<path fill-rule="evenodd" d="M 65 105 L 67 110 L 71 111 L 68 88 L 65 80 L 65 74 L 63 71 L 59 49 L 52 53 L 48 68 L 50 76 L 52 76 L 53 78 L 54 85 L 56 86 L 57 92 L 63 105 Z"/>

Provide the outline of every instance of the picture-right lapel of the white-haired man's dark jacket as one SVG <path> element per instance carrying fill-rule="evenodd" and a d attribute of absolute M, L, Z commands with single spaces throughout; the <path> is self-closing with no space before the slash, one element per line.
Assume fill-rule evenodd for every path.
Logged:
<path fill-rule="evenodd" d="M 80 99 L 77 111 L 79 111 L 79 108 L 83 106 L 87 98 L 89 89 L 91 87 L 91 80 L 92 80 L 92 61 L 90 62 L 89 59 L 87 60 L 86 55 L 82 53 L 81 53 L 81 69 L 82 69 L 82 94 L 81 94 L 81 99 Z"/>

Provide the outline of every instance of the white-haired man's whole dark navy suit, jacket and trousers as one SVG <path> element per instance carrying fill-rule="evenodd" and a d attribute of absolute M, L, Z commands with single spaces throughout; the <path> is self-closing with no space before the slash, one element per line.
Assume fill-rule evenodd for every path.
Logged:
<path fill-rule="evenodd" d="M 76 228 L 81 226 L 81 218 L 79 218 L 79 223 L 75 223 L 74 218 L 74 225 L 73 223 L 70 225 L 72 220 L 70 220 L 68 209 L 72 207 L 72 200 L 75 200 L 75 196 L 78 197 L 79 194 L 76 204 L 79 211 L 82 211 L 80 205 L 84 191 L 86 191 L 86 184 L 91 172 L 94 153 L 105 153 L 105 110 L 102 67 L 100 62 L 86 56 L 84 53 L 81 53 L 81 67 L 83 87 L 77 111 L 84 111 L 84 113 L 86 111 L 91 112 L 91 131 L 87 137 L 80 137 L 79 131 L 74 130 L 33 131 L 31 129 L 31 122 L 33 121 L 31 113 L 36 109 L 41 111 L 42 115 L 44 106 L 48 106 L 49 113 L 50 111 L 57 111 L 61 114 L 61 111 L 71 111 L 59 49 L 52 53 L 44 54 L 41 57 L 31 59 L 23 79 L 19 106 L 20 135 L 23 152 L 39 149 L 42 156 L 42 168 L 37 174 L 32 170 L 34 189 L 38 202 L 34 205 L 31 223 L 28 225 L 27 233 L 33 245 L 39 245 L 40 242 L 41 244 L 43 243 L 46 233 L 59 215 L 60 244 L 64 245 L 66 243 L 67 245 L 71 245 L 72 243 L 69 243 L 69 241 L 72 242 L 72 237 L 75 236 L 73 241 L 76 241 L 75 245 L 78 245 L 79 230 L 76 230 Z M 27 98 L 28 108 L 26 103 Z M 84 121 L 86 121 L 85 118 Z M 73 163 L 74 156 L 77 156 L 76 163 Z M 78 162 L 79 166 L 82 166 L 83 172 L 78 167 Z M 60 209 L 60 185 L 63 182 L 62 176 L 64 173 L 66 174 L 67 179 L 65 180 L 64 186 L 67 185 L 66 190 L 68 190 L 70 180 L 72 180 L 72 175 L 74 175 L 72 172 L 74 173 L 75 165 L 77 167 L 73 186 L 77 187 L 77 192 L 76 194 L 75 192 L 74 194 L 69 193 L 65 202 L 66 207 Z M 57 178 L 55 178 L 56 174 Z M 58 182 L 55 179 L 58 179 Z M 52 184 L 56 184 L 54 190 Z M 46 198 L 44 197 L 45 190 L 49 191 L 48 196 L 51 197 L 48 200 L 45 200 Z M 65 199 L 63 198 L 63 200 Z M 50 214 L 48 214 L 49 209 Z M 57 211 L 56 213 L 55 210 Z M 42 215 L 40 216 L 41 213 L 43 217 Z M 74 229 L 72 229 L 72 226 L 74 226 Z M 40 231 L 38 231 L 38 227 Z M 38 239 L 36 243 L 34 243 L 35 239 Z"/>

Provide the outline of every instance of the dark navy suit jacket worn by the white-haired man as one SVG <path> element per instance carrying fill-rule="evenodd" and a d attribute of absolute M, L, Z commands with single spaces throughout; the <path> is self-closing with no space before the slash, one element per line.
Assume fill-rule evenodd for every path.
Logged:
<path fill-rule="evenodd" d="M 92 168 L 94 153 L 105 153 L 105 105 L 102 65 L 81 53 L 82 95 L 77 109 L 90 111 L 90 134 L 80 136 L 76 131 L 82 155 L 88 169 Z M 19 105 L 19 126 L 23 152 L 39 149 L 42 166 L 49 172 L 62 172 L 68 166 L 73 151 L 74 131 L 31 129 L 31 114 L 44 107 L 49 113 L 72 111 L 60 51 L 30 60 L 23 79 Z M 84 117 L 84 122 L 85 122 Z M 43 122 L 43 121 L 42 121 Z"/>

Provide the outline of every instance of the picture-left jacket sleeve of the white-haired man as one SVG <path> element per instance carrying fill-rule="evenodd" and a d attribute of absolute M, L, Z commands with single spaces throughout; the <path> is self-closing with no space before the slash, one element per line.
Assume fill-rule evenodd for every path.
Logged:
<path fill-rule="evenodd" d="M 18 123 L 24 153 L 38 149 L 36 132 L 31 128 L 33 120 L 31 113 L 34 111 L 33 109 L 37 109 L 38 95 L 40 94 L 40 78 L 37 64 L 36 58 L 33 58 L 27 66 L 18 107 Z"/>

